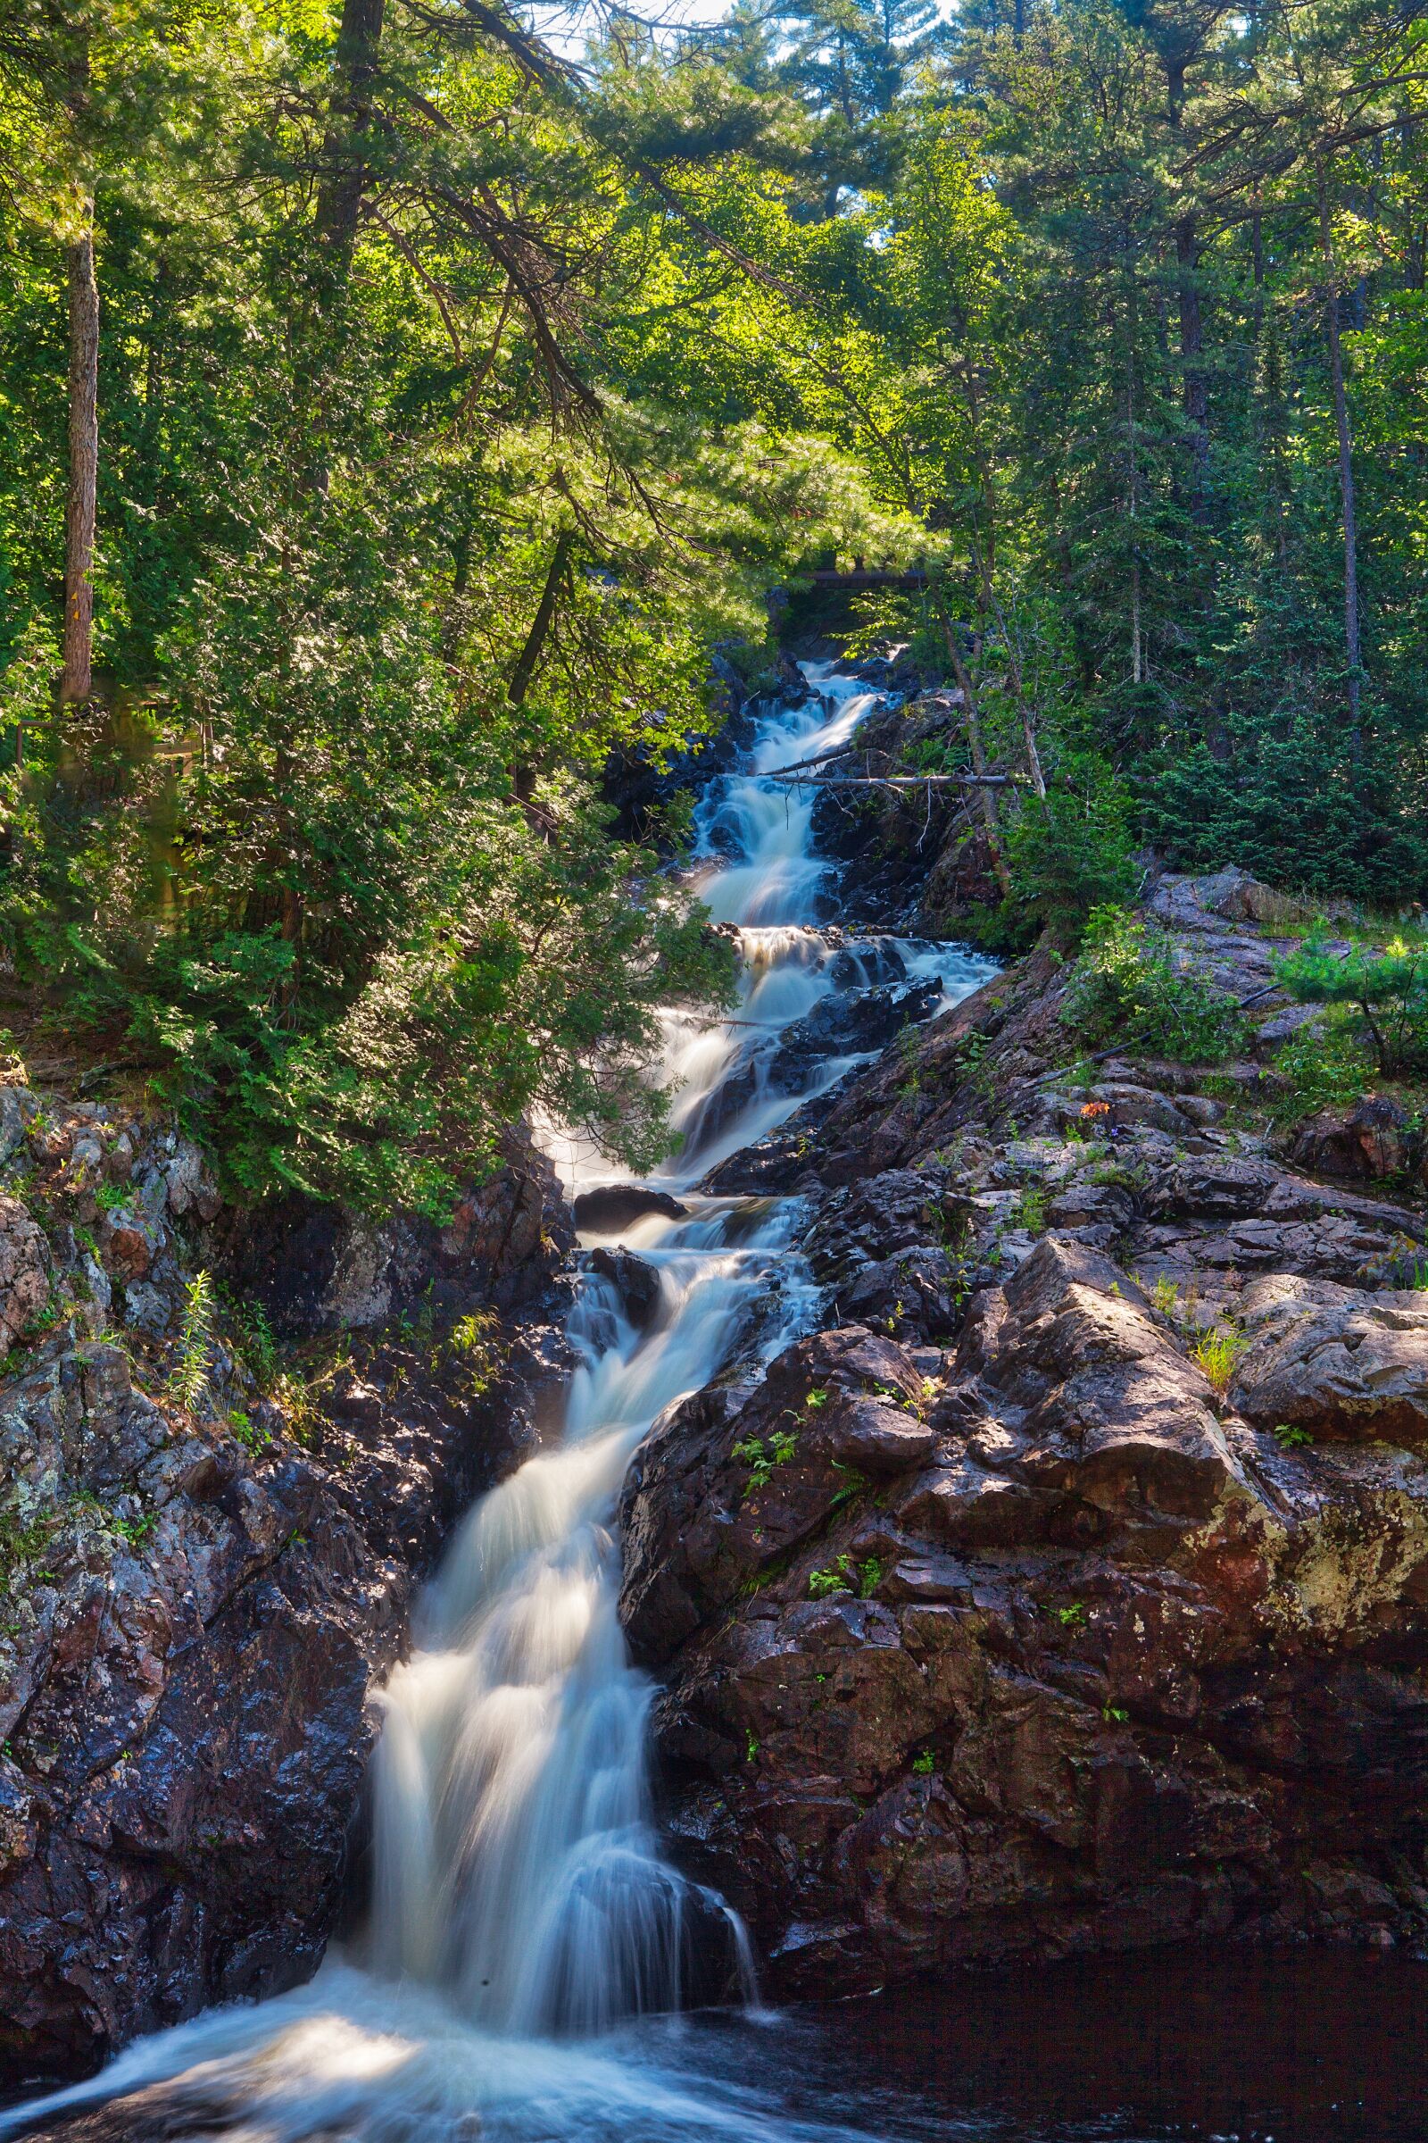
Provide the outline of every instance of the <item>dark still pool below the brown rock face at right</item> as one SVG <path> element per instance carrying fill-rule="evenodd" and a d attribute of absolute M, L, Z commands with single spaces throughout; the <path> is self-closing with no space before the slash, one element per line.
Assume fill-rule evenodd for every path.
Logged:
<path fill-rule="evenodd" d="M 1362 1950 L 1143 1952 L 948 1974 L 794 2010 L 773 2044 L 803 2119 L 976 2143 L 1424 2143 L 1428 1965 Z M 762 2081 L 762 2077 L 760 2077 Z"/>

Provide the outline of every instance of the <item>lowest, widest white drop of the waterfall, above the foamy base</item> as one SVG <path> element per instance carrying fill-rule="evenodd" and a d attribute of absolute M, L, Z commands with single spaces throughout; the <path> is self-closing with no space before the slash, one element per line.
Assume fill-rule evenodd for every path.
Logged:
<path fill-rule="evenodd" d="M 385 1691 L 373 1967 L 445 1987 L 501 2032 L 591 2034 L 679 2006 L 692 1892 L 651 1828 L 649 1682 L 614 1612 L 610 1522 L 634 1447 L 715 1374 L 792 1226 L 773 1215 L 732 1249 L 721 1219 L 666 1222 L 644 1252 L 662 1282 L 644 1339 L 587 1275 L 565 1436 L 475 1504 Z"/>

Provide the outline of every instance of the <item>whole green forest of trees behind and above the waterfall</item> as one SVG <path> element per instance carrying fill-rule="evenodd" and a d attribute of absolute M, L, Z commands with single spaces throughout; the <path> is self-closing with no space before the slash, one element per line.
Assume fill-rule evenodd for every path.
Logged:
<path fill-rule="evenodd" d="M 961 692 L 1006 898 L 1428 891 L 1415 0 L 9 0 L 0 947 L 248 1198 L 632 1166 L 728 947 L 614 838 L 771 589 Z M 777 613 L 775 613 L 777 615 Z M 991 941 L 996 943 L 996 928 Z"/>

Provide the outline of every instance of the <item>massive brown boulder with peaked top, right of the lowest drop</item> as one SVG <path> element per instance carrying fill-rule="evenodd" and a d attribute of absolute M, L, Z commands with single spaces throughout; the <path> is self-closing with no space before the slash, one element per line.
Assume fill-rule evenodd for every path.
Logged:
<path fill-rule="evenodd" d="M 1409 1408 L 1419 1312 L 1347 1288 L 1248 1297 L 1246 1393 L 1330 1312 Z M 1374 1939 L 1422 1939 L 1392 1869 L 1428 1845 L 1424 1462 L 1285 1449 L 1081 1241 L 1043 1239 L 918 1369 L 805 1339 L 679 1408 L 627 1487 L 670 1832 L 773 1987 L 1330 1931 L 1359 1877 Z M 856 1453 L 863 1412 L 886 1436 Z"/>

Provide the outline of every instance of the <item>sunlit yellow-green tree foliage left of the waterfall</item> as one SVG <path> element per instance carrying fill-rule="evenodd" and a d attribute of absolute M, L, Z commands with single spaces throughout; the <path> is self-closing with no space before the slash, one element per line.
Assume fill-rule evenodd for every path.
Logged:
<path fill-rule="evenodd" d="M 544 88 L 514 17 L 388 13 L 336 242 L 336 32 L 101 11 L 83 141 L 69 17 L 0 45 L 0 945 L 231 1192 L 441 1217 L 531 1108 L 670 1151 L 657 1007 L 721 1003 L 732 956 L 612 838 L 606 761 L 709 731 L 709 645 L 762 647 L 809 544 L 916 531 L 764 392 L 745 300 L 788 300 L 711 283 L 629 165 L 687 159 L 719 223 L 756 99 L 614 47 Z M 94 696 L 58 714 L 79 169 L 103 536 Z"/>

